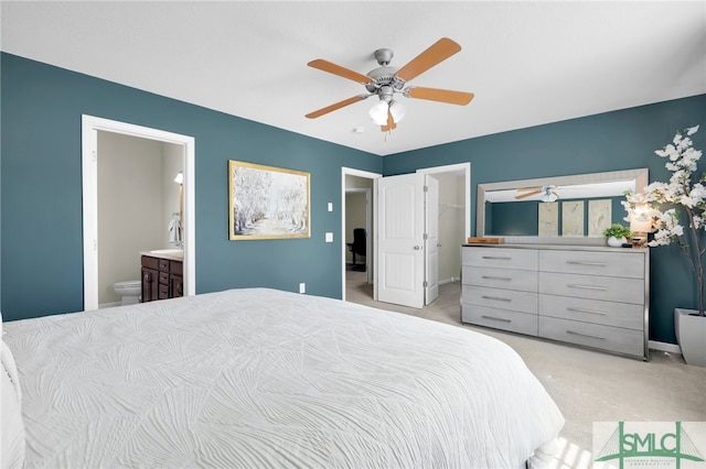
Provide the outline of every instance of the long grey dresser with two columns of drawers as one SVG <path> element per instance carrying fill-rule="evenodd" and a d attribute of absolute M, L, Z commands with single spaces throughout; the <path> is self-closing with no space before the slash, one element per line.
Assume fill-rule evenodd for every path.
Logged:
<path fill-rule="evenodd" d="M 461 320 L 648 359 L 649 249 L 461 247 Z"/>

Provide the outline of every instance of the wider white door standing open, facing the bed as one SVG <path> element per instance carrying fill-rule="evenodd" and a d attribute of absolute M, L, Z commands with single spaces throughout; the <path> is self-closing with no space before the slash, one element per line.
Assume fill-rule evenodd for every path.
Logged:
<path fill-rule="evenodd" d="M 420 308 L 425 296 L 425 175 L 376 179 L 379 302 Z"/>

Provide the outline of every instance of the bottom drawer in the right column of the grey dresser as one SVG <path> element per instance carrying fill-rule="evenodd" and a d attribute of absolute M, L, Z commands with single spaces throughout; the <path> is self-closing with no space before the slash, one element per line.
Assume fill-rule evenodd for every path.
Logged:
<path fill-rule="evenodd" d="M 642 330 L 538 316 L 539 337 L 644 357 Z"/>

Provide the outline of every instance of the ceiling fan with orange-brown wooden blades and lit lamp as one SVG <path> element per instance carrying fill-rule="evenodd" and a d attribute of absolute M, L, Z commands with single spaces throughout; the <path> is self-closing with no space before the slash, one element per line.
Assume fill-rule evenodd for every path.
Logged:
<path fill-rule="evenodd" d="M 389 48 L 378 48 L 375 51 L 375 59 L 378 68 L 371 70 L 367 75 L 359 74 L 349 68 L 317 58 L 309 62 L 310 67 L 338 75 L 343 78 L 362 84 L 367 94 L 357 95 L 343 101 L 335 102 L 325 108 L 308 113 L 306 117 L 315 119 L 329 112 L 362 101 L 371 96 L 377 96 L 379 101 L 370 110 L 373 122 L 381 126 L 383 132 L 392 131 L 405 117 L 404 105 L 395 99 L 395 94 L 400 94 L 407 98 L 427 99 L 430 101 L 447 102 L 451 105 L 466 106 L 473 99 L 472 92 L 452 91 L 448 89 L 424 88 L 418 86 L 405 87 L 407 81 L 419 76 L 429 68 L 446 61 L 451 55 L 461 50 L 461 46 L 448 37 L 441 37 L 429 46 L 421 54 L 411 59 L 402 68 L 389 66 L 394 52 Z"/>

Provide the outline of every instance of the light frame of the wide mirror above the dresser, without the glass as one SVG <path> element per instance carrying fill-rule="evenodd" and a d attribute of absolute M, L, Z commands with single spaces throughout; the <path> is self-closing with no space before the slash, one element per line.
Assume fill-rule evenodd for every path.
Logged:
<path fill-rule="evenodd" d="M 520 187 L 534 186 L 569 186 L 573 184 L 610 183 L 618 181 L 634 179 L 635 193 L 641 194 L 649 184 L 649 170 L 646 167 L 638 170 L 611 171 L 607 173 L 575 174 L 569 176 L 539 177 L 536 179 L 504 181 L 500 183 L 486 183 L 478 185 L 478 201 L 475 210 L 475 233 L 484 237 L 485 229 L 485 194 L 491 190 L 507 190 Z M 500 236 L 505 242 L 511 243 L 542 243 L 542 244 L 602 244 L 602 237 L 552 237 L 541 238 L 538 236 Z"/>

